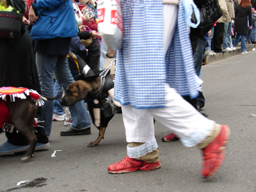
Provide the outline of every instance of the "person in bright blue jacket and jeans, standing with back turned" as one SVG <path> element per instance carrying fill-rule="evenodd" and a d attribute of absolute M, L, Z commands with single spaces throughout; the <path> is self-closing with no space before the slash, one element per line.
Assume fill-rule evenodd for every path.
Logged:
<path fill-rule="evenodd" d="M 54 97 L 55 75 L 64 88 L 74 82 L 68 67 L 67 54 L 72 36 L 77 36 L 77 25 L 72 0 L 35 0 L 31 3 L 29 20 L 33 27 L 31 38 L 35 39 L 36 65 L 42 95 Z M 71 106 L 72 125 L 61 131 L 62 136 L 90 134 L 92 122 L 84 101 Z M 42 108 L 45 134 L 51 134 L 53 100 L 45 102 Z"/>

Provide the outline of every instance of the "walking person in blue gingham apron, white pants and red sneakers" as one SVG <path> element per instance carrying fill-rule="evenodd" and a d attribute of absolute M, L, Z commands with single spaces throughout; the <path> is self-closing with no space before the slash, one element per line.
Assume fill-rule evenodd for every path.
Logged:
<path fill-rule="evenodd" d="M 184 2 L 186 1 L 186 2 Z M 185 147 L 202 150 L 201 174 L 209 178 L 225 159 L 230 129 L 205 118 L 182 96 L 198 95 L 186 3 L 191 0 L 120 0 L 123 47 L 117 51 L 115 100 L 122 104 L 127 157 L 110 173 L 161 167 L 154 119 Z"/>

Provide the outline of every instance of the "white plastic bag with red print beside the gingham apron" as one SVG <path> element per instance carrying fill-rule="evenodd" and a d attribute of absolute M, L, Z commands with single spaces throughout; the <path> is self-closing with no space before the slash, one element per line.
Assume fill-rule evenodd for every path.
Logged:
<path fill-rule="evenodd" d="M 119 0 L 99 0 L 97 14 L 98 31 L 108 49 L 122 49 L 124 24 Z"/>

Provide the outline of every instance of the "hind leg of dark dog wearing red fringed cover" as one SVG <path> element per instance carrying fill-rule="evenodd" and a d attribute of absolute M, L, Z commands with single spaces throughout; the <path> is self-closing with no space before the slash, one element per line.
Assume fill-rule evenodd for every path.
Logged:
<path fill-rule="evenodd" d="M 8 102 L 12 123 L 21 134 L 29 141 L 29 148 L 26 157 L 21 160 L 25 161 L 33 157 L 36 147 L 36 136 L 33 131 L 33 122 L 36 115 L 37 106 L 31 99 L 15 99 L 15 102 Z"/>

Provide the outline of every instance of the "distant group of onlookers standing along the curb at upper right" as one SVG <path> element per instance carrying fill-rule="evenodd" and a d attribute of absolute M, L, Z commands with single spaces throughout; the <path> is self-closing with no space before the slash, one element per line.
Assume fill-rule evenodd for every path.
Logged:
<path fill-rule="evenodd" d="M 220 3 L 225 19 L 220 18 L 209 31 L 205 56 L 215 55 L 216 52 L 236 50 L 241 42 L 241 54 L 247 54 L 246 45 L 256 44 L 256 3 L 254 0 L 225 0 Z M 210 35 L 211 34 L 211 35 Z"/>

